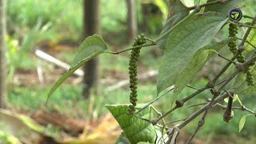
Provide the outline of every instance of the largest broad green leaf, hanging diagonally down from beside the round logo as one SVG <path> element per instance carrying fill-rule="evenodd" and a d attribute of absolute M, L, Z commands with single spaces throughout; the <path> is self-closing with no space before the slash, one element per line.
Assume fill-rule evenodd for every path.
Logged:
<path fill-rule="evenodd" d="M 166 42 L 158 74 L 158 94 L 174 85 L 194 54 L 210 44 L 227 21 L 217 13 L 194 14 L 178 25 Z"/>

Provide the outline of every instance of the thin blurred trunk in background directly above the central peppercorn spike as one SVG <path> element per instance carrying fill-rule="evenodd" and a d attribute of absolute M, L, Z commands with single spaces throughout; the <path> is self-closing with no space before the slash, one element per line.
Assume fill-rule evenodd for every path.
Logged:
<path fill-rule="evenodd" d="M 137 9 L 136 9 L 136 0 L 126 0 L 127 2 L 127 24 L 128 24 L 128 40 L 129 42 L 133 41 L 138 33 L 137 26 Z"/>

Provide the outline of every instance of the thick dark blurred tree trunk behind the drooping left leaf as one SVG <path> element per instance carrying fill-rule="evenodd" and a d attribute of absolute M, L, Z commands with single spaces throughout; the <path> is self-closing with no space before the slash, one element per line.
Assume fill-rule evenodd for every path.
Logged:
<path fill-rule="evenodd" d="M 100 0 L 84 0 L 83 3 L 83 36 L 84 38 L 93 35 L 101 34 L 100 31 Z M 99 70 L 98 58 L 93 58 L 84 66 L 84 79 L 83 79 L 83 96 L 89 98 L 91 88 L 94 86 L 96 94 L 99 90 Z"/>

